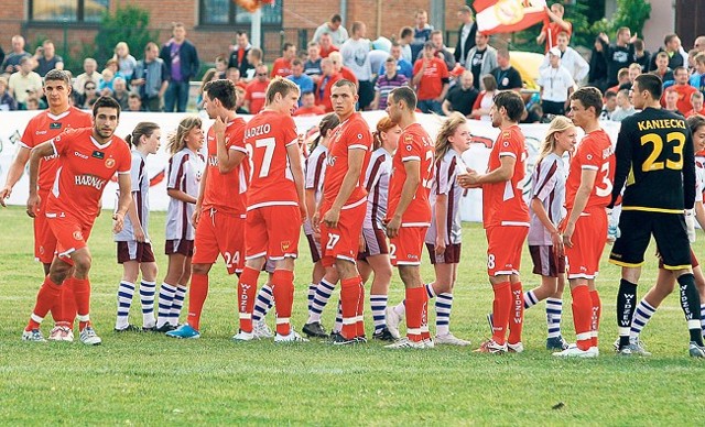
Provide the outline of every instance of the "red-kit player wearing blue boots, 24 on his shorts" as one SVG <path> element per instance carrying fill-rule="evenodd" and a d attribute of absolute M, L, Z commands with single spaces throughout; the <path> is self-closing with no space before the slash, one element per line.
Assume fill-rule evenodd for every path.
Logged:
<path fill-rule="evenodd" d="M 194 212 L 196 236 L 188 291 L 188 319 L 174 338 L 198 338 L 200 313 L 208 295 L 208 272 L 218 254 L 228 274 L 245 265 L 245 214 L 249 164 L 245 149 L 245 120 L 235 112 L 237 92 L 230 80 L 208 81 L 203 94 L 206 112 L 215 123 L 208 130 L 208 158 Z"/>

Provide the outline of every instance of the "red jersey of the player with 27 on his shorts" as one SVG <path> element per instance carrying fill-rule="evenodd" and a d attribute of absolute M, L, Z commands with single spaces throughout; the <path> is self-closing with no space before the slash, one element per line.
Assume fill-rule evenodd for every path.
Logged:
<path fill-rule="evenodd" d="M 344 208 L 360 205 L 367 200 L 365 189 L 365 171 L 370 162 L 372 152 L 372 134 L 365 119 L 359 112 L 352 113 L 346 121 L 338 124 L 330 139 L 330 147 L 326 161 L 326 174 L 323 178 L 323 197 L 326 207 L 333 206 L 338 190 L 348 172 L 348 153 L 350 150 L 365 150 L 365 161 L 357 186 L 345 201 Z"/>

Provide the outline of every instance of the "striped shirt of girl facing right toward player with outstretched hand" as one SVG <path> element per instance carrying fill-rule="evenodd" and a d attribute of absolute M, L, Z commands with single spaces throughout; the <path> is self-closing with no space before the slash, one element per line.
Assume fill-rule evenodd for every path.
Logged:
<path fill-rule="evenodd" d="M 431 217 L 431 228 L 426 232 L 426 243 L 435 244 L 436 229 L 436 200 L 440 195 L 446 195 L 448 200 L 446 214 L 446 244 L 458 244 L 463 240 L 463 223 L 460 222 L 460 197 L 463 188 L 457 183 L 458 173 L 465 173 L 466 166 L 460 155 L 449 149 L 445 155 L 435 162 L 435 174 L 431 182 L 431 194 L 429 201 L 433 215 Z"/>

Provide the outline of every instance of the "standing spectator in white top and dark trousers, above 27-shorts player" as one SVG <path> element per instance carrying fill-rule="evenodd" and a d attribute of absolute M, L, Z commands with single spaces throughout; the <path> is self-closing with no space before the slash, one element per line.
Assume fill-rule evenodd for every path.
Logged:
<path fill-rule="evenodd" d="M 350 29 L 350 39 L 340 46 L 343 65 L 350 68 L 357 77 L 357 94 L 359 109 L 365 110 L 375 98 L 375 86 L 372 85 L 372 67 L 370 66 L 370 41 L 365 39 L 367 25 L 364 22 L 355 21 Z"/>

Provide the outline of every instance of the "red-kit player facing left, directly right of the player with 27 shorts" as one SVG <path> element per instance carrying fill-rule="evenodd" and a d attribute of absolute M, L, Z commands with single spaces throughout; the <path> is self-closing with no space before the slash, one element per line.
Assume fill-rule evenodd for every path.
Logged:
<path fill-rule="evenodd" d="M 389 92 L 387 113 L 402 129 L 399 147 L 392 160 L 387 209 L 387 236 L 390 259 L 399 269 L 406 297 L 406 337 L 389 349 L 426 349 L 433 347 L 429 333 L 429 296 L 421 280 L 421 252 L 431 227 L 431 179 L 434 143 L 416 122 L 416 94 L 409 87 Z"/>

